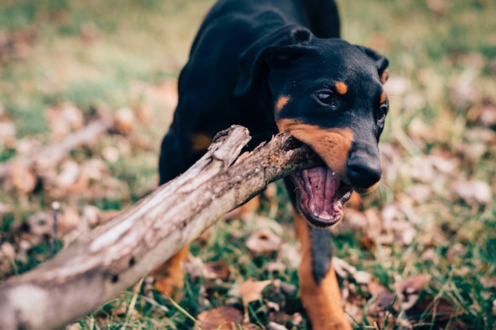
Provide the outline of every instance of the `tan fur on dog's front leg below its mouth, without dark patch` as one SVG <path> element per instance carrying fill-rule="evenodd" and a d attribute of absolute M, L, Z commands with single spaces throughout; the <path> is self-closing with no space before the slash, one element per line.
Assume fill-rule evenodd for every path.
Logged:
<path fill-rule="evenodd" d="M 351 330 L 341 307 L 341 292 L 334 267 L 317 284 L 312 275 L 311 240 L 307 220 L 300 212 L 294 212 L 295 225 L 302 245 L 302 262 L 299 269 L 300 294 L 313 330 L 346 329 Z"/>

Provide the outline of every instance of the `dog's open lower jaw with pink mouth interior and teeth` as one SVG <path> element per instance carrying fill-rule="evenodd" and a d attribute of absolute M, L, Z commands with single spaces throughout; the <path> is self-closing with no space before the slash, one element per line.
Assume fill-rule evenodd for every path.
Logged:
<path fill-rule="evenodd" d="M 309 168 L 291 177 L 298 188 L 300 210 L 311 224 L 329 227 L 341 220 L 351 186 L 344 184 L 331 168 Z"/>

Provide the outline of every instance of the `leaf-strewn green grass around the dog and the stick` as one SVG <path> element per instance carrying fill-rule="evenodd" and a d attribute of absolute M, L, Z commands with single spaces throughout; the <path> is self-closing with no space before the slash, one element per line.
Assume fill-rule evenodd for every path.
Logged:
<path fill-rule="evenodd" d="M 0 3 L 0 40 L 7 41 L 0 42 L 0 124 L 15 130 L 0 132 L 2 162 L 52 142 L 54 123 L 47 113 L 63 102 L 74 104 L 84 121 L 97 113 L 116 116 L 123 107 L 136 115 L 132 131 L 77 148 L 56 168 L 37 173 L 36 186 L 28 190 L 12 177 L 1 181 L 0 279 L 50 258 L 48 237 L 30 219 L 50 212 L 52 201 L 60 201 L 65 214 L 75 209 L 84 223 L 87 205 L 120 210 L 154 188 L 159 139 L 174 109 L 174 80 L 211 3 Z M 400 329 L 409 323 L 414 329 L 496 329 L 496 3 L 338 4 L 344 38 L 389 58 L 391 113 L 381 142 L 382 186 L 360 210 L 348 210 L 335 232 L 335 254 L 391 294 L 411 276 L 430 276 L 414 307 L 395 300 L 389 318 L 373 313 L 377 296 L 369 287 L 351 275 L 343 278 L 349 307 L 358 308 L 356 327 Z M 95 159 L 99 166 L 94 167 Z M 79 190 L 61 184 L 71 160 L 79 166 L 79 179 L 81 173 L 94 173 Z M 145 278 L 69 328 L 191 329 L 205 309 L 242 309 L 236 288 L 249 279 L 298 287 L 289 203 L 282 186 L 274 188 L 263 197 L 256 221 L 218 223 L 192 246 L 194 256 L 218 263 L 229 276 L 187 276 L 183 297 L 174 303 L 154 292 Z M 252 256 L 245 241 L 260 228 L 271 228 L 285 248 Z M 59 244 L 69 236 L 70 231 L 62 232 Z M 282 267 L 273 268 L 274 260 Z M 297 292 L 282 295 L 272 288 L 262 297 L 249 305 L 255 329 L 263 329 L 273 315 L 268 300 L 302 316 L 301 321 L 279 320 L 288 329 L 307 329 Z"/>

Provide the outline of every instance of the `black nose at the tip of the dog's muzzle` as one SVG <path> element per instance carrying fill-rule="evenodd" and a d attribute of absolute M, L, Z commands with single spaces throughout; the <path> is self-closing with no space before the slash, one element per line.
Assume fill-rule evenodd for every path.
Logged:
<path fill-rule="evenodd" d="M 368 190 L 378 183 L 382 174 L 379 157 L 356 151 L 347 162 L 347 177 L 355 190 Z"/>

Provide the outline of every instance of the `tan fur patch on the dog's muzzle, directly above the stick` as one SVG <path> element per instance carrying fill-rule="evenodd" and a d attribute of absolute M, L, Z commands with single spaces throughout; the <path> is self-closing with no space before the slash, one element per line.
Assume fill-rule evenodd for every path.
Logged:
<path fill-rule="evenodd" d="M 324 162 L 338 175 L 346 174 L 346 161 L 353 143 L 353 132 L 349 128 L 322 129 L 297 120 L 277 121 L 279 131 L 288 131 L 304 144 L 308 144 Z"/>

